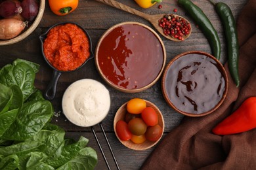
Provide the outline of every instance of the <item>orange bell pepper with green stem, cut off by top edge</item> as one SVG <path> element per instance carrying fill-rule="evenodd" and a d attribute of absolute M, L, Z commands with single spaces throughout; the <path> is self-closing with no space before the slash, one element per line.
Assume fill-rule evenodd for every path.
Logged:
<path fill-rule="evenodd" d="M 49 0 L 50 9 L 54 14 L 64 16 L 74 11 L 79 0 Z"/>

